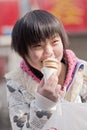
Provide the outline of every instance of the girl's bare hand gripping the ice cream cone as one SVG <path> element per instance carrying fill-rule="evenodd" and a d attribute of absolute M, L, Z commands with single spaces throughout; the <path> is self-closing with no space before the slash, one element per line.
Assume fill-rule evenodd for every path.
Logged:
<path fill-rule="evenodd" d="M 53 73 L 46 83 L 44 82 L 44 79 L 42 79 L 37 91 L 42 96 L 57 102 L 58 96 L 62 93 L 61 85 L 58 84 L 57 73 Z"/>

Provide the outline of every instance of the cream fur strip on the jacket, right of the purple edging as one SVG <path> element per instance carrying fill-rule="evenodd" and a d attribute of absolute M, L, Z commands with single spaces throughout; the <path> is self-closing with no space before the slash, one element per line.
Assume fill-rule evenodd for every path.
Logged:
<path fill-rule="evenodd" d="M 68 89 L 65 95 L 65 99 L 68 100 L 69 102 L 81 103 L 80 91 L 82 87 L 83 87 L 83 74 L 82 71 L 78 70 L 70 88 Z"/>

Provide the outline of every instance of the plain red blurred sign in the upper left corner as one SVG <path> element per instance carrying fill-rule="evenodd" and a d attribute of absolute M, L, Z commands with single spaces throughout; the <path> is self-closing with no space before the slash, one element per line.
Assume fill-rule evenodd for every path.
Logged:
<path fill-rule="evenodd" d="M 9 34 L 19 17 L 18 0 L 0 1 L 0 34 Z"/>

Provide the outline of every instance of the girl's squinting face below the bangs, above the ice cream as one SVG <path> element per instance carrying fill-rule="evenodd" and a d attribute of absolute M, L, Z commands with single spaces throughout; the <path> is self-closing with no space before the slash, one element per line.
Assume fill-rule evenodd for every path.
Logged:
<path fill-rule="evenodd" d="M 63 57 L 63 43 L 59 35 L 55 35 L 45 42 L 38 43 L 29 48 L 29 55 L 26 57 L 28 63 L 34 68 L 41 70 L 43 60 L 53 57 L 61 61 Z"/>

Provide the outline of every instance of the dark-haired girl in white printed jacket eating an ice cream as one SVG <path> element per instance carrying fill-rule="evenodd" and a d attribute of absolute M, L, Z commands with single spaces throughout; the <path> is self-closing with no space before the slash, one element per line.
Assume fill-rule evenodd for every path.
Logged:
<path fill-rule="evenodd" d="M 13 130 L 41 130 L 56 109 L 59 97 L 69 102 L 87 100 L 87 63 L 66 49 L 62 23 L 44 10 L 20 18 L 12 31 L 12 48 L 23 58 L 6 75 L 9 114 Z M 54 72 L 44 82 L 43 61 L 56 58 Z"/>

